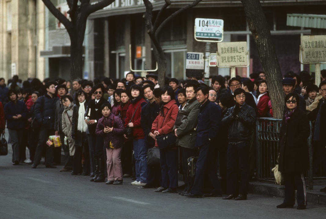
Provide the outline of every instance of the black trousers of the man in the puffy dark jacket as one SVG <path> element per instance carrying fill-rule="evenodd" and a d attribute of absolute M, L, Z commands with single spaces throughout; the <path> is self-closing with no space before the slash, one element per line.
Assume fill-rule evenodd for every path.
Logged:
<path fill-rule="evenodd" d="M 40 129 L 37 148 L 35 151 L 35 157 L 34 157 L 34 165 L 40 164 L 42 153 L 46 151 L 45 156 L 45 165 L 46 166 L 52 166 L 53 165 L 53 149 L 54 147 L 49 147 L 46 144 L 46 141 L 49 139 L 50 135 L 54 135 L 53 129 Z"/>

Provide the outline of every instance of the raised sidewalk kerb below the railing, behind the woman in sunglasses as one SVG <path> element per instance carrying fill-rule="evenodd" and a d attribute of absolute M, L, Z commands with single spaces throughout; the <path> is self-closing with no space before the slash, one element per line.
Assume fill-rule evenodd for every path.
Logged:
<path fill-rule="evenodd" d="M 325 188 L 325 186 L 326 180 L 314 180 L 314 189 L 307 190 L 308 205 L 309 203 L 326 205 L 326 193 L 319 192 L 319 190 Z M 249 182 L 249 192 L 284 198 L 284 186 L 279 186 L 266 182 Z"/>

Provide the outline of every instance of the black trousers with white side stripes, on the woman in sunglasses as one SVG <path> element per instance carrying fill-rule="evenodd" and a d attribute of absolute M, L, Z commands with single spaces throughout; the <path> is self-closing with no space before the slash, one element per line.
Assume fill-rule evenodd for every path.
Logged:
<path fill-rule="evenodd" d="M 307 205 L 306 185 L 302 172 L 282 173 L 285 185 L 283 203 L 294 205 L 295 190 L 297 190 L 298 205 Z"/>

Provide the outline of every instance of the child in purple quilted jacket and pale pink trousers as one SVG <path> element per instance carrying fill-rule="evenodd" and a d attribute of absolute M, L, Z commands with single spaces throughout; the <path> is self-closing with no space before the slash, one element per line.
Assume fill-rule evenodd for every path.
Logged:
<path fill-rule="evenodd" d="M 121 119 L 111 113 L 110 103 L 104 103 L 100 109 L 103 117 L 98 120 L 95 133 L 104 136 L 108 171 L 106 184 L 121 185 L 123 183 L 121 151 L 124 143 L 125 127 Z"/>

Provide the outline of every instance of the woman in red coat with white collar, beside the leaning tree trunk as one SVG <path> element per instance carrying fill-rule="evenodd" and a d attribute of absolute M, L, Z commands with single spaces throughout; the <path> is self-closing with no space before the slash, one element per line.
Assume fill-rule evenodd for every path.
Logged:
<path fill-rule="evenodd" d="M 261 80 L 259 82 L 259 96 L 257 98 L 256 104 L 257 104 L 257 117 L 262 118 L 262 117 L 269 117 L 268 116 L 268 111 L 269 111 L 269 106 L 268 102 L 270 100 L 269 94 L 268 94 L 268 86 L 266 80 Z"/>

